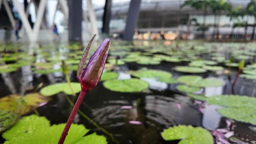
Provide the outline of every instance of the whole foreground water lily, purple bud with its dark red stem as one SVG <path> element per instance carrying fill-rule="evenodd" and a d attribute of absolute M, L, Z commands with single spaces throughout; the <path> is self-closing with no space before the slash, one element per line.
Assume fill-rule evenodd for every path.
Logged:
<path fill-rule="evenodd" d="M 67 120 L 67 123 L 61 134 L 58 144 L 64 143 L 65 138 L 67 137 L 67 134 L 68 134 L 68 130 L 70 129 L 70 126 L 74 120 L 74 117 L 78 111 L 78 108 L 80 107 L 83 101 L 83 98 L 85 97 L 86 93 L 89 90 L 91 90 L 97 85 L 98 81 L 100 80 L 100 76 L 103 72 L 104 64 L 107 58 L 107 53 L 109 52 L 109 47 L 110 47 L 110 40 L 108 38 L 105 39 L 103 43 L 101 43 L 101 45 L 97 48 L 97 50 L 89 60 L 88 64 L 84 68 L 87 55 L 89 53 L 89 50 L 91 49 L 95 36 L 96 35 L 94 35 L 94 37 L 92 37 L 91 41 L 89 42 L 87 48 L 85 49 L 85 52 L 83 53 L 80 63 L 78 65 L 77 79 L 81 84 L 81 92 Z"/>

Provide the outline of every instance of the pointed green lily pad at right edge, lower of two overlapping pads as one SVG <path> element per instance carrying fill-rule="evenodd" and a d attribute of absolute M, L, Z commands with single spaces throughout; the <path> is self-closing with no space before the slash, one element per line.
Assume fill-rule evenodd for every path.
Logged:
<path fill-rule="evenodd" d="M 231 119 L 256 125 L 255 107 L 229 107 L 217 110 L 221 115 Z"/>

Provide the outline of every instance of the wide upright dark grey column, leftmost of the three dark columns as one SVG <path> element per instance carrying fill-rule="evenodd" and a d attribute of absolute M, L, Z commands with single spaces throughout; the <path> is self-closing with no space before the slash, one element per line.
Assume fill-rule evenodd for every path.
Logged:
<path fill-rule="evenodd" d="M 68 0 L 68 39 L 82 41 L 82 0 Z"/>

